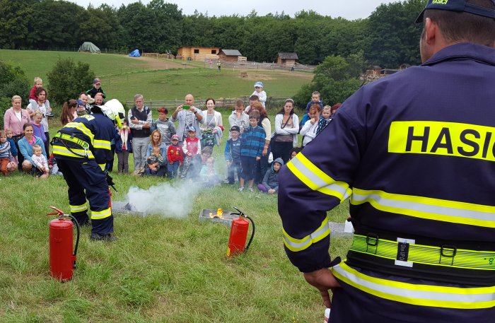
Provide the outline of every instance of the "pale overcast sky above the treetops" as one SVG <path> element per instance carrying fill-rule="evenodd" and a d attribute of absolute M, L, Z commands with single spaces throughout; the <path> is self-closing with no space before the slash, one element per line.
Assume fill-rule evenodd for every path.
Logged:
<path fill-rule="evenodd" d="M 86 8 L 89 4 L 94 7 L 100 4 L 108 4 L 119 8 L 122 4 L 128 5 L 139 0 L 69 0 Z M 148 4 L 150 0 L 141 0 L 143 4 Z M 230 16 L 238 14 L 247 16 L 253 9 L 258 16 L 265 16 L 267 13 L 281 13 L 293 17 L 294 13 L 301 10 L 313 10 L 322 16 L 332 16 L 333 18 L 343 17 L 349 20 L 367 18 L 382 3 L 397 2 L 398 0 L 165 0 L 165 2 L 177 4 L 182 9 L 182 14 L 192 15 L 194 10 L 199 13 L 208 13 L 208 16 Z"/>

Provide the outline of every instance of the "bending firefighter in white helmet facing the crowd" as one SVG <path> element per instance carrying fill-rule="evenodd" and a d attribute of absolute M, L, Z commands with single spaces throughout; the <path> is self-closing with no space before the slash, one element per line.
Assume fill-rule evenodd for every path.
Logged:
<path fill-rule="evenodd" d="M 91 107 L 91 114 L 74 119 L 59 130 L 52 141 L 57 165 L 69 185 L 71 214 L 80 225 L 89 224 L 91 209 L 91 240 L 116 240 L 110 209 L 109 184 L 105 165 L 112 159 L 110 141 L 115 136 L 115 124 L 125 110 L 118 100 Z M 85 192 L 86 191 L 86 192 Z"/>

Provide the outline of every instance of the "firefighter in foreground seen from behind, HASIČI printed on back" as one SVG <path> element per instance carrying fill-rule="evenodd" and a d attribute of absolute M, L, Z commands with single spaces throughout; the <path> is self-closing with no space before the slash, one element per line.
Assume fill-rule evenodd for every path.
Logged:
<path fill-rule="evenodd" d="M 360 88 L 280 171 L 286 254 L 332 323 L 495 322 L 495 1 L 417 22 L 423 64 Z M 327 211 L 347 198 L 341 262 Z"/>

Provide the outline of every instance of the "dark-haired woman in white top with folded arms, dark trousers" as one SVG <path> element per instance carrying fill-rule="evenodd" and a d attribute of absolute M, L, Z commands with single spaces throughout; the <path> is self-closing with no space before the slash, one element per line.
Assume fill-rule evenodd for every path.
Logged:
<path fill-rule="evenodd" d="M 294 114 L 294 101 L 287 99 L 284 107 L 275 116 L 275 133 L 272 138 L 273 159 L 282 158 L 284 164 L 291 159 L 291 149 L 297 146 L 299 118 Z"/>

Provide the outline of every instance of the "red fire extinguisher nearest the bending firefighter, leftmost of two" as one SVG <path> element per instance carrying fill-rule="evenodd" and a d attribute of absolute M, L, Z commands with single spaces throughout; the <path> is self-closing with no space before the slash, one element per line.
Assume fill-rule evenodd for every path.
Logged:
<path fill-rule="evenodd" d="M 56 212 L 48 213 L 49 216 L 59 216 L 50 221 L 50 274 L 59 281 L 70 281 L 72 271 L 76 269 L 76 254 L 79 245 L 79 225 L 74 216 L 64 214 L 54 206 L 50 206 Z M 71 221 L 72 218 L 74 221 Z M 74 225 L 77 227 L 76 247 L 72 253 L 74 242 Z"/>

